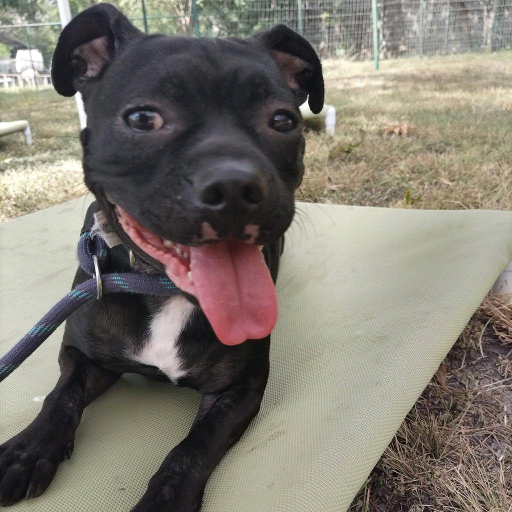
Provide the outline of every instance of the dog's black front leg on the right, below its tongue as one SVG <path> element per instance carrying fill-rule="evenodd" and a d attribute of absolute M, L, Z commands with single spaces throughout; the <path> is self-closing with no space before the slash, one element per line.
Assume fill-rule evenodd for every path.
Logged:
<path fill-rule="evenodd" d="M 204 394 L 189 434 L 167 455 L 132 512 L 197 512 L 212 471 L 258 414 L 267 378 L 268 353 L 258 374 Z"/>

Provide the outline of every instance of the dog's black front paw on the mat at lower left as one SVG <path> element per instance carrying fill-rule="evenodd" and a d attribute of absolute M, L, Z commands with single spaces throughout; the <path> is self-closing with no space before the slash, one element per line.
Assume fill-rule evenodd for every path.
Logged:
<path fill-rule="evenodd" d="M 63 440 L 37 425 L 0 445 L 0 506 L 44 493 L 57 466 L 72 452 L 73 440 Z"/>

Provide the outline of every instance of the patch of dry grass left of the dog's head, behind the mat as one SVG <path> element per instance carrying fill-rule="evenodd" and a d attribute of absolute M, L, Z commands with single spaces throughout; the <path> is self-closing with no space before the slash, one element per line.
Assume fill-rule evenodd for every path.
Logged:
<path fill-rule="evenodd" d="M 75 102 L 46 89 L 2 91 L 0 104 L 0 119 L 28 119 L 34 140 L 0 137 L 0 222 L 83 195 Z"/>

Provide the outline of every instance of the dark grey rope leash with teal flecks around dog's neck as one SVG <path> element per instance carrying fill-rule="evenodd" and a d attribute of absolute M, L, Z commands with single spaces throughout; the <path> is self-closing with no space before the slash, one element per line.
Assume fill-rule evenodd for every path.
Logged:
<path fill-rule="evenodd" d="M 167 296 L 179 289 L 165 276 L 122 272 L 100 274 L 100 265 L 108 257 L 108 247 L 101 237 L 91 238 L 90 232 L 82 233 L 78 243 L 78 260 L 82 269 L 92 279 L 73 288 L 63 297 L 14 347 L 0 358 L 0 382 L 12 373 L 57 327 L 80 306 L 102 293 L 141 293 Z"/>

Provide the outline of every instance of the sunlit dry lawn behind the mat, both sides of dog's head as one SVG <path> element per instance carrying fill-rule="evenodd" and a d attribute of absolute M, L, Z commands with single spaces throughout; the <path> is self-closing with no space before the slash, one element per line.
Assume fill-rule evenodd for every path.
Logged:
<path fill-rule="evenodd" d="M 415 208 L 512 203 L 512 54 L 324 63 L 334 137 L 309 131 L 299 199 Z M 34 146 L 0 138 L 0 221 L 83 193 L 75 103 L 52 90 L 0 92 Z M 407 126 L 395 135 L 392 126 Z M 330 178 L 330 181 L 328 180 Z M 64 190 L 64 192 L 62 192 Z"/>

